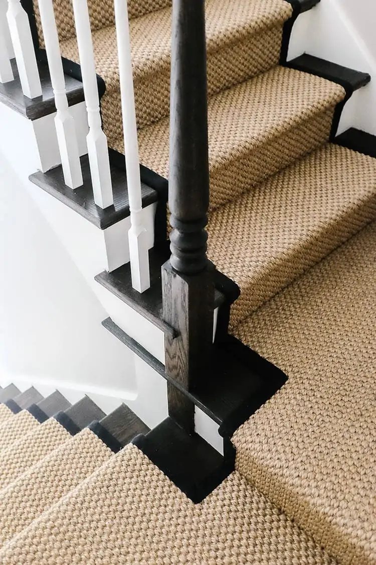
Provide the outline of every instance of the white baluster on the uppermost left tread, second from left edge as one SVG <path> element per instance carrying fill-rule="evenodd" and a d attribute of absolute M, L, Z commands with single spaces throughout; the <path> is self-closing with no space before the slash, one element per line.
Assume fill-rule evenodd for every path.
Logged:
<path fill-rule="evenodd" d="M 22 92 L 28 98 L 42 95 L 29 18 L 20 0 L 8 0 L 7 19 Z"/>

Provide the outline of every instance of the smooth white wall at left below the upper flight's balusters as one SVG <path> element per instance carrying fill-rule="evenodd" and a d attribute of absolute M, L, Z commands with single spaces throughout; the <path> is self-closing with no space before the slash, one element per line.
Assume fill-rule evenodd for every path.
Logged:
<path fill-rule="evenodd" d="M 0 379 L 134 397 L 132 354 L 0 151 Z M 1 383 L 0 383 L 1 384 Z"/>

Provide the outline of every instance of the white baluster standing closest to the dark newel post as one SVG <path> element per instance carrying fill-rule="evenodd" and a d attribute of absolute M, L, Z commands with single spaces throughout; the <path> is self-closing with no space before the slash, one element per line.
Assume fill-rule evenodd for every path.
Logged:
<path fill-rule="evenodd" d="M 138 292 L 150 287 L 149 253 L 147 231 L 143 224 L 140 160 L 137 140 L 135 97 L 131 63 L 129 20 L 127 0 L 114 0 L 119 58 L 121 106 L 131 228 L 129 250 L 132 286 Z"/>

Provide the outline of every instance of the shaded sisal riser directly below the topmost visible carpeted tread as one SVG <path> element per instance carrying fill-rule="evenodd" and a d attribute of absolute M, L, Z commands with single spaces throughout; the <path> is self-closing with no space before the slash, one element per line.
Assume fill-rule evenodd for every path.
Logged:
<path fill-rule="evenodd" d="M 212 96 L 224 89 L 268 71 L 280 56 L 282 27 L 273 27 L 244 41 L 207 55 L 207 90 Z M 235 64 L 236 62 L 236 64 Z M 134 77 L 138 127 L 142 128 L 169 115 L 170 62 L 157 73 Z M 111 146 L 122 137 L 120 90 L 108 90 L 101 99 L 104 131 Z"/>

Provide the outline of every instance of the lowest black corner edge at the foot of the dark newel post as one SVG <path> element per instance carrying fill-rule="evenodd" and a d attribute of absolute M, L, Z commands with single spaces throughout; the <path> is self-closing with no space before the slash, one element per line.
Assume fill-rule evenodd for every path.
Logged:
<path fill-rule="evenodd" d="M 171 418 L 135 437 L 132 444 L 196 504 L 235 469 L 235 450 L 223 457 L 196 433 L 189 436 Z"/>

